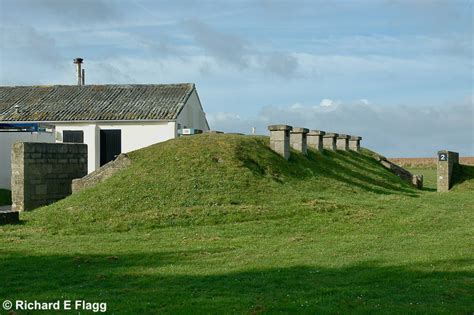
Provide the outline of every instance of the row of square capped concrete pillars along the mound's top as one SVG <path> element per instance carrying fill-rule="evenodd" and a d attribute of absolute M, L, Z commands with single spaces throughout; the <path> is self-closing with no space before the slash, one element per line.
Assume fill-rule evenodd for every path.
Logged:
<path fill-rule="evenodd" d="M 293 128 L 288 125 L 270 125 L 270 148 L 283 156 L 290 158 L 290 147 L 303 153 L 308 153 L 308 147 L 322 151 L 343 150 L 359 151 L 362 137 L 309 130 L 306 128 Z"/>

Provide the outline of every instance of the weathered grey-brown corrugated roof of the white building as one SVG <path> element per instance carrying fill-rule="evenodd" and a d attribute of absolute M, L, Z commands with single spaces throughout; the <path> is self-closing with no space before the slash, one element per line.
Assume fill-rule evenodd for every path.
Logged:
<path fill-rule="evenodd" d="M 194 84 L 0 87 L 0 121 L 174 120 Z"/>

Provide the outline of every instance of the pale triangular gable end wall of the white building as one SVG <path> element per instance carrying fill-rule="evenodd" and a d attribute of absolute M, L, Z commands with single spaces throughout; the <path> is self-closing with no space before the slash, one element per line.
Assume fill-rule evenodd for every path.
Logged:
<path fill-rule="evenodd" d="M 203 131 L 209 130 L 206 114 L 202 109 L 196 90 L 194 90 L 189 96 L 189 99 L 181 113 L 179 113 L 176 122 L 181 126 L 181 128 L 194 128 Z"/>

